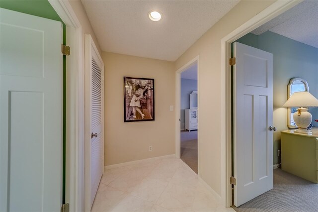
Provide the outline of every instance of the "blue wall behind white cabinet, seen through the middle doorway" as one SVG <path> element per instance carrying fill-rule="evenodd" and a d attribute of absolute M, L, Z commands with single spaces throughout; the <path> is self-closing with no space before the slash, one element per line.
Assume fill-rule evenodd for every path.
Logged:
<path fill-rule="evenodd" d="M 184 109 L 189 109 L 190 107 L 190 94 L 192 91 L 198 90 L 198 81 L 181 79 L 181 129 L 184 129 Z"/>

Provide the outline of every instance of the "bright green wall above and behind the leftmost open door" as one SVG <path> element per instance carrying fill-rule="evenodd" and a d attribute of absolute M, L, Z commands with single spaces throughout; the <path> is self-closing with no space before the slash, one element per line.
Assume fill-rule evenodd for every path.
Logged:
<path fill-rule="evenodd" d="M 66 26 L 60 16 L 53 9 L 48 0 L 0 0 L 0 7 L 35 15 L 63 23 L 63 43 L 66 43 Z M 63 204 L 65 203 L 65 156 L 66 156 L 66 56 L 63 56 Z"/>

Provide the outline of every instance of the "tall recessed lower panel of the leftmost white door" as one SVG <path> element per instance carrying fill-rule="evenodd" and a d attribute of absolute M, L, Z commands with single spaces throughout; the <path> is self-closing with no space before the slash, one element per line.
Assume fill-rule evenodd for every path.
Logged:
<path fill-rule="evenodd" d="M 10 211 L 20 211 L 21 206 L 25 207 L 25 211 L 41 211 L 43 207 L 43 100 L 43 92 L 9 92 L 8 200 Z M 28 138 L 27 142 L 23 142 L 25 138 Z M 37 174 L 30 170 L 37 170 Z M 27 183 L 21 183 L 21 174 L 22 182 Z M 30 191 L 38 195 L 30 196 Z"/>

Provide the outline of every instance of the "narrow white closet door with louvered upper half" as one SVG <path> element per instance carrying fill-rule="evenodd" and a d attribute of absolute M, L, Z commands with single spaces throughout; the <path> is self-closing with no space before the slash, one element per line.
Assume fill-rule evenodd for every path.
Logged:
<path fill-rule="evenodd" d="M 85 36 L 85 211 L 90 211 L 104 170 L 104 63 Z"/>

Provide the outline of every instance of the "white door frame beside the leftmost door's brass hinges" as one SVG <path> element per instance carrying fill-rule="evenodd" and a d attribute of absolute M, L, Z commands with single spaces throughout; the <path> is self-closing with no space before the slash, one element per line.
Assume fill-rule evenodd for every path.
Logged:
<path fill-rule="evenodd" d="M 65 201 L 70 211 L 84 206 L 84 71 L 82 29 L 69 1 L 48 0 L 66 25 L 66 182 Z"/>

